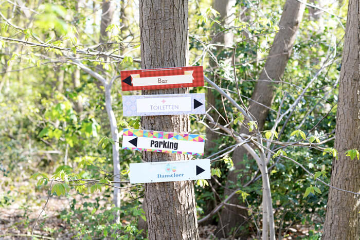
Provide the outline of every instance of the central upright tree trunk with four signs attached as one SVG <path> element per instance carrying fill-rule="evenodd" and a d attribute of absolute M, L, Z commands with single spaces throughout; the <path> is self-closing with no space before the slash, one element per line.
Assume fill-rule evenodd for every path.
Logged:
<path fill-rule="evenodd" d="M 185 66 L 188 63 L 188 2 L 140 0 L 141 67 Z M 143 94 L 185 94 L 188 88 L 144 90 Z M 189 133 L 188 115 L 141 117 L 142 128 Z M 143 152 L 147 162 L 189 160 L 188 155 Z M 145 184 L 149 239 L 199 239 L 192 181 Z"/>

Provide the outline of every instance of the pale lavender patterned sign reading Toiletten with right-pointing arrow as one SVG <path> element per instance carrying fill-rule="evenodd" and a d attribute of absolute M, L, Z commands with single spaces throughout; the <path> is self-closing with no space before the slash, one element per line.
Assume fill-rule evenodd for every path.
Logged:
<path fill-rule="evenodd" d="M 205 114 L 205 94 L 122 96 L 123 116 Z"/>

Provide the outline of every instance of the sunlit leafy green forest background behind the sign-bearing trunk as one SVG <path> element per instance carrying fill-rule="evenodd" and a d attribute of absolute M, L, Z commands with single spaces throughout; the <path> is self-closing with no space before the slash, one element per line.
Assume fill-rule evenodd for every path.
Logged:
<path fill-rule="evenodd" d="M 0 237 L 146 238 L 144 186 L 128 176 L 141 153 L 119 149 L 141 128 L 119 78 L 141 68 L 138 1 L 0 3 Z M 332 162 L 359 169 L 360 141 L 334 148 L 347 16 L 339 0 L 188 2 L 188 61 L 207 82 L 190 92 L 208 109 L 190 132 L 206 134 L 212 173 L 194 182 L 200 237 L 260 239 L 269 219 L 272 235 L 256 155 L 276 238 L 323 236 Z M 341 174 L 356 228 L 360 174 Z"/>

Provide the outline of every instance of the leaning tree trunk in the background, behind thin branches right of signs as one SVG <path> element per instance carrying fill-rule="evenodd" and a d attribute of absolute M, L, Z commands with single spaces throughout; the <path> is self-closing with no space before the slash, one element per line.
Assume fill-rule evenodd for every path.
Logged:
<path fill-rule="evenodd" d="M 302 20 L 302 15 L 305 9 L 305 5 L 296 0 L 287 0 L 280 19 L 280 30 L 274 39 L 272 48 L 268 54 L 265 66 L 260 73 L 260 80 L 275 80 L 280 81 L 284 73 L 285 66 L 289 60 L 294 46 L 296 32 L 299 28 Z M 272 82 L 258 81 L 251 99 L 254 101 L 249 102 L 249 112 L 254 116 L 258 122 L 259 130 L 263 129 L 266 117 L 268 115 L 268 108 L 258 104 L 262 103 L 265 106 L 270 107 L 275 94 L 275 86 Z M 248 133 L 245 127 L 240 130 L 242 133 Z M 243 147 L 238 147 L 232 155 L 232 160 L 235 166 L 235 170 L 229 172 L 228 181 L 226 186 L 237 182 L 239 169 L 244 168 L 243 156 L 247 154 Z M 226 190 L 224 194 L 229 195 L 231 190 Z M 236 200 L 236 199 L 234 199 Z M 232 200 L 232 201 L 234 201 Z M 232 202 L 233 203 L 233 202 Z M 238 208 L 224 209 L 221 213 L 225 232 L 230 233 L 232 228 L 238 226 L 239 219 L 241 219 L 241 210 Z"/>

